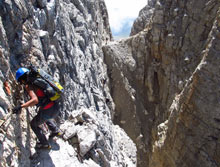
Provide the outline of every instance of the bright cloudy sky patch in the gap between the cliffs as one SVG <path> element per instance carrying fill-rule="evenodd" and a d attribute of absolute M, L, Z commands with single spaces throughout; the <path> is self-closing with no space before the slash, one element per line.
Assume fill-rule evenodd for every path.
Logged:
<path fill-rule="evenodd" d="M 115 40 L 128 37 L 139 11 L 148 0 L 105 0 L 110 27 Z"/>

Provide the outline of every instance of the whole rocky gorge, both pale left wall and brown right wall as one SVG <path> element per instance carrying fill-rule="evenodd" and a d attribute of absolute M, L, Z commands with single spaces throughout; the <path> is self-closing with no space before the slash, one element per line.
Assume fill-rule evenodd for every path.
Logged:
<path fill-rule="evenodd" d="M 104 0 L 0 0 L 0 166 L 220 166 L 219 54 L 219 0 L 149 0 L 119 41 Z M 49 152 L 11 113 L 31 64 L 65 89 Z"/>

